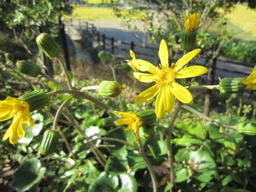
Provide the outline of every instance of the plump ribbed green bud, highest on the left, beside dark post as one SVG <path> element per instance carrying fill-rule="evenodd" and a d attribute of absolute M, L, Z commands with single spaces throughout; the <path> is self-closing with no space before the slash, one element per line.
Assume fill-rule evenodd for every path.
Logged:
<path fill-rule="evenodd" d="M 38 35 L 37 45 L 42 49 L 47 57 L 53 58 L 60 54 L 60 46 L 49 34 L 43 33 Z"/>

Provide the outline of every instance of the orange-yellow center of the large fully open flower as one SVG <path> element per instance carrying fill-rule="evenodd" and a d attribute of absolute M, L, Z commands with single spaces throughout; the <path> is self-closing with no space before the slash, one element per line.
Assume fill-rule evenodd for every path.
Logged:
<path fill-rule="evenodd" d="M 171 86 L 175 81 L 175 71 L 172 69 L 174 63 L 171 64 L 171 68 L 160 66 L 160 74 L 158 74 L 157 79 L 155 79 L 155 83 L 160 87 L 168 87 Z"/>

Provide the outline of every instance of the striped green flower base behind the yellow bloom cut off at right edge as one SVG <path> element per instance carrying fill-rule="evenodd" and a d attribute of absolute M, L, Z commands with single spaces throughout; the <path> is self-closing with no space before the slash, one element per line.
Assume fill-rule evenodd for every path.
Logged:
<path fill-rule="evenodd" d="M 221 79 L 221 81 L 219 82 L 219 91 L 222 94 L 244 92 L 246 85 L 243 84 L 243 80 L 243 77 L 228 77 Z"/>

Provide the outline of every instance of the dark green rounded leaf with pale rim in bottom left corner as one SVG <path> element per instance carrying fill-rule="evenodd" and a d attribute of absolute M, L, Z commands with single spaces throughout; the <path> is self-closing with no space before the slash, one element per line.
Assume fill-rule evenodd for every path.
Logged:
<path fill-rule="evenodd" d="M 31 158 L 23 162 L 13 176 L 12 188 L 16 191 L 27 191 L 41 181 L 46 168 L 41 168 L 40 160 Z"/>

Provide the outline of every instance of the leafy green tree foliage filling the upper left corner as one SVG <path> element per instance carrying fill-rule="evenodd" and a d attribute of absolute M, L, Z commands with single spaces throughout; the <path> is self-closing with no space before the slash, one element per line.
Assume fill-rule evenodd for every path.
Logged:
<path fill-rule="evenodd" d="M 47 32 L 56 29 L 59 16 L 71 14 L 73 5 L 68 0 L 0 1 L 0 30 L 32 54 L 34 43 L 31 42 L 38 35 L 39 27 Z"/>

